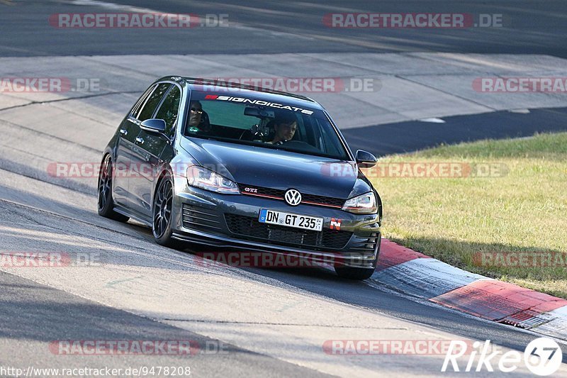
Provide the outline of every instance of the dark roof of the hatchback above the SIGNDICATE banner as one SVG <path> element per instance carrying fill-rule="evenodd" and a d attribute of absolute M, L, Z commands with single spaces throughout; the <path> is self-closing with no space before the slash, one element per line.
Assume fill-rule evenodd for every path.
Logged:
<path fill-rule="evenodd" d="M 324 110 L 323 107 L 318 104 L 317 101 L 310 99 L 307 96 L 301 96 L 300 94 L 293 94 L 284 91 L 275 91 L 273 89 L 266 89 L 262 87 L 251 86 L 247 84 L 240 84 L 234 82 L 225 82 L 223 80 L 215 79 L 202 79 L 198 77 L 181 77 L 181 76 L 165 76 L 156 82 L 162 82 L 164 80 L 171 80 L 177 82 L 181 85 L 186 85 L 189 89 L 198 91 L 209 91 L 213 93 L 223 93 L 228 96 L 254 96 L 254 99 L 260 99 L 263 101 L 284 101 L 287 104 L 297 105 L 297 106 L 309 106 L 310 108 Z M 232 89 L 232 91 L 230 90 Z M 239 89 L 234 91 L 234 89 Z"/>

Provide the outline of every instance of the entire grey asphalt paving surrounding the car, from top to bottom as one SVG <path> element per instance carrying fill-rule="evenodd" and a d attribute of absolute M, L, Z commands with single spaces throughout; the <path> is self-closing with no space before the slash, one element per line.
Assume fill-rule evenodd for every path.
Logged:
<path fill-rule="evenodd" d="M 55 13 L 140 9 L 223 13 L 229 26 L 63 29 L 49 23 Z M 50 167 L 99 162 L 133 101 L 166 74 L 371 78 L 379 85 L 369 92 L 307 95 L 336 118 L 353 149 L 378 155 L 566 130 L 566 94 L 483 94 L 471 87 L 478 77 L 565 77 L 566 10 L 564 1 L 0 1 L 0 77 L 96 82 L 85 91 L 0 92 L 1 252 L 57 252 L 94 262 L 0 266 L 0 367 L 437 377 L 444 355 L 330 355 L 323 345 L 490 339 L 503 351 L 523 353 L 534 334 L 426 304 L 381 282 L 350 282 L 322 268 L 213 265 L 163 248 L 150 229 L 96 214 L 96 177 L 57 177 Z M 503 13 L 506 23 L 335 30 L 321 22 L 325 13 L 364 11 Z M 57 340 L 193 340 L 198 348 L 189 356 L 62 355 L 52 347 Z M 567 374 L 566 345 L 558 374 Z M 525 367 L 515 374 L 531 376 Z"/>

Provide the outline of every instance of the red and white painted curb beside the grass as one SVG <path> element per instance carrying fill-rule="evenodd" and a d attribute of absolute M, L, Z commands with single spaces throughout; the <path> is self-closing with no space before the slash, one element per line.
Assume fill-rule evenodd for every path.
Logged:
<path fill-rule="evenodd" d="M 567 300 L 466 272 L 382 239 L 371 279 L 478 318 L 567 340 Z"/>

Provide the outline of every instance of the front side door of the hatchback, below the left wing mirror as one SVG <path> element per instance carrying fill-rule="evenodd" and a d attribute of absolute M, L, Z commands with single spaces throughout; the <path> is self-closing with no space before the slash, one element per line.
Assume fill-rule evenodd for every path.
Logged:
<path fill-rule="evenodd" d="M 155 96 L 152 94 L 153 99 L 150 97 L 147 101 L 137 121 L 142 123 L 147 119 L 157 118 L 155 115 L 159 113 L 159 109 L 162 109 L 164 105 L 171 106 L 172 99 L 169 94 L 174 88 L 176 93 L 180 94 L 178 87 L 172 83 L 159 84 L 154 92 Z M 177 106 L 179 107 L 179 102 Z M 133 172 L 128 183 L 128 190 L 132 198 L 131 206 L 133 210 L 140 213 L 140 216 L 150 219 L 152 215 L 151 194 L 160 165 L 159 155 L 165 146 L 169 145 L 169 141 L 164 135 L 140 129 L 134 143 L 131 161 Z"/>

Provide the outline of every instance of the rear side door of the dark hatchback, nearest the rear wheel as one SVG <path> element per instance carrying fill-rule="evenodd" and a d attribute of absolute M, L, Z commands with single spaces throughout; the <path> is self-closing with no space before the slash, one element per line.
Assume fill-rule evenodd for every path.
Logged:
<path fill-rule="evenodd" d="M 116 157 L 114 158 L 113 199 L 116 203 L 128 206 L 130 195 L 128 191 L 128 177 L 130 175 L 130 160 L 135 138 L 140 134 L 137 122 L 137 113 L 145 105 L 148 97 L 157 87 L 156 84 L 148 88 L 138 99 L 128 116 L 122 121 L 119 128 L 118 142 L 116 143 Z"/>

